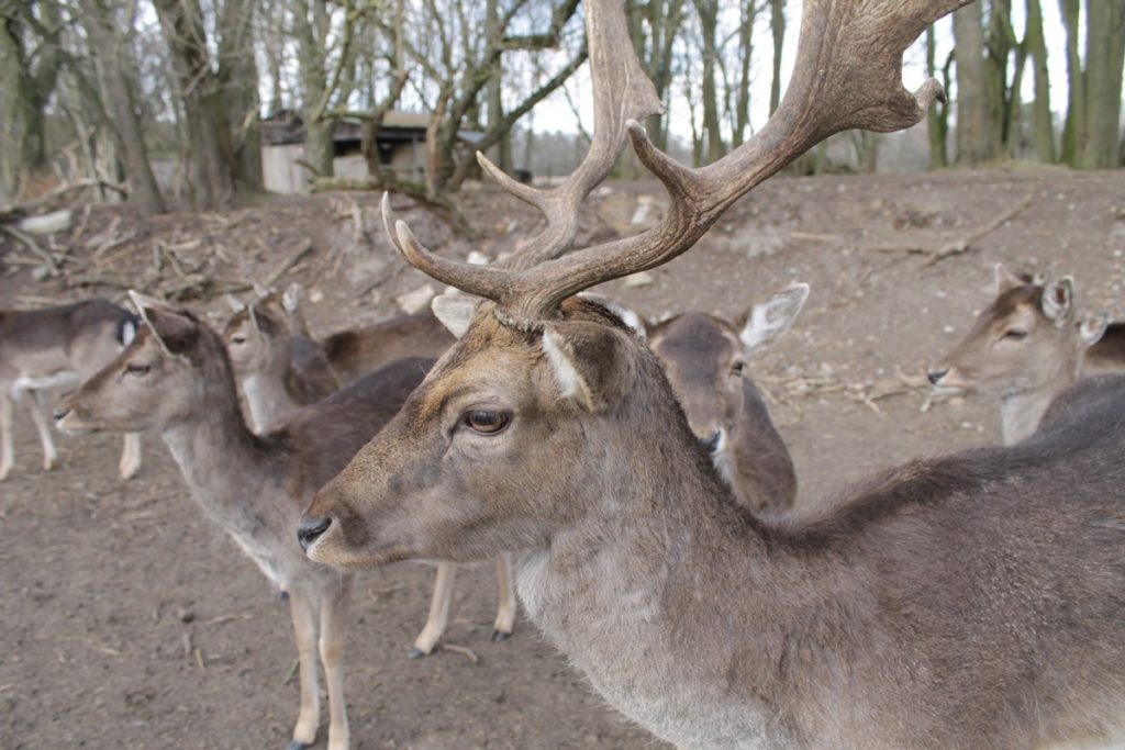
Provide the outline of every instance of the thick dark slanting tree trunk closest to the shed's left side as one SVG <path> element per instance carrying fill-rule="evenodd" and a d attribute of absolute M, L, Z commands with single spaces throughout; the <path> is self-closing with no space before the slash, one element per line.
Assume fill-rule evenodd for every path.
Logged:
<path fill-rule="evenodd" d="M 223 91 L 212 71 L 198 0 L 154 0 L 180 87 L 197 200 L 218 208 L 234 195 L 234 146 Z"/>

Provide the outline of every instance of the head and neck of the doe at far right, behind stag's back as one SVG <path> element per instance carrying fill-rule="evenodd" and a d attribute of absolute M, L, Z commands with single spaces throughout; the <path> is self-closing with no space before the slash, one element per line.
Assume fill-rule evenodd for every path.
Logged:
<path fill-rule="evenodd" d="M 1069 275 L 1027 279 L 1001 263 L 994 273 L 996 298 L 927 377 L 939 392 L 978 390 L 999 398 L 1004 443 L 1012 445 L 1032 435 L 1051 403 L 1082 376 L 1107 318 L 1076 319 Z"/>

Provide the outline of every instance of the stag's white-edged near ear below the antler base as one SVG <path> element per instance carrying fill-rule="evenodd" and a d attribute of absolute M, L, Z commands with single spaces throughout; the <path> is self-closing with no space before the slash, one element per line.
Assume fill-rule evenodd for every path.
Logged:
<path fill-rule="evenodd" d="M 632 368 L 623 351 L 628 334 L 584 320 L 543 327 L 543 354 L 564 398 L 587 412 L 603 412 L 632 385 Z"/>

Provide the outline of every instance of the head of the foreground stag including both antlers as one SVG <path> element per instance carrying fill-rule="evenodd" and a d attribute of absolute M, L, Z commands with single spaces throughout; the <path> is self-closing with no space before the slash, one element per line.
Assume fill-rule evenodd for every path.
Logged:
<path fill-rule="evenodd" d="M 642 491 L 676 472 L 699 476 L 701 466 L 704 481 L 713 478 L 712 496 L 729 497 L 650 350 L 604 307 L 574 295 L 688 250 L 740 196 L 828 135 L 919 121 L 940 87 L 927 81 L 916 94 L 904 91 L 902 52 L 962 4 L 807 0 L 796 66 L 777 111 L 739 148 L 692 170 L 657 150 L 637 123 L 658 102 L 632 53 L 623 3 L 588 2 L 597 133 L 586 161 L 543 192 L 480 157 L 547 218 L 524 252 L 488 266 L 442 257 L 393 222 L 384 200 L 404 257 L 484 301 L 398 416 L 306 510 L 298 536 L 309 557 L 366 567 L 543 549 L 594 509 L 611 512 L 623 487 Z M 669 210 L 649 232 L 566 253 L 574 213 L 612 168 L 626 133 L 666 186 Z M 654 451 L 657 433 L 680 445 Z"/>

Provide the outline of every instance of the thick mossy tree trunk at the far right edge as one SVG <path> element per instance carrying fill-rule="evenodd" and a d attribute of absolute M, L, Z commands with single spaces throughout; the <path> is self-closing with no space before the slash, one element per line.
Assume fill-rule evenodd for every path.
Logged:
<path fill-rule="evenodd" d="M 1117 161 L 1125 60 L 1125 0 L 1086 3 L 1086 133 L 1078 166 L 1109 169 Z"/>

